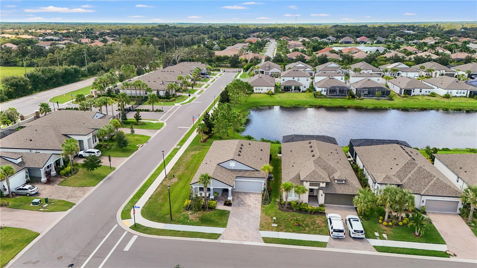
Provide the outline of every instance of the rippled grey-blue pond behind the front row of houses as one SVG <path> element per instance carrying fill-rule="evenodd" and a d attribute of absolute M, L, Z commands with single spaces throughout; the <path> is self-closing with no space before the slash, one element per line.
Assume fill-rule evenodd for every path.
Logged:
<path fill-rule="evenodd" d="M 343 108 L 263 107 L 252 109 L 242 135 L 280 140 L 283 135 L 328 135 L 346 146 L 350 139 L 399 139 L 413 147 L 477 147 L 477 113 Z"/>

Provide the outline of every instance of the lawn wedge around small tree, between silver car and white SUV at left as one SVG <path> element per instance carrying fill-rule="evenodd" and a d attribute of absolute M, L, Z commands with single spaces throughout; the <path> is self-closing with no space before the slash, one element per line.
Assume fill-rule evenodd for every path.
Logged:
<path fill-rule="evenodd" d="M 78 165 L 77 168 L 79 168 L 78 173 L 66 178 L 64 181 L 59 183 L 59 185 L 74 187 L 96 186 L 100 181 L 102 181 L 108 174 L 110 174 L 114 170 L 114 167 L 110 169 L 109 165 L 102 165 L 94 171 L 87 171 L 81 166 L 81 164 Z"/>

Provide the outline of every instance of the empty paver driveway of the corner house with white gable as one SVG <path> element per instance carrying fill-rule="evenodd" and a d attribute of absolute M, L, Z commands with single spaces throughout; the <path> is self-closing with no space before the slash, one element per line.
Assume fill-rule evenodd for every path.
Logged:
<path fill-rule="evenodd" d="M 227 228 L 218 239 L 263 242 L 259 233 L 260 193 L 233 192 Z"/>

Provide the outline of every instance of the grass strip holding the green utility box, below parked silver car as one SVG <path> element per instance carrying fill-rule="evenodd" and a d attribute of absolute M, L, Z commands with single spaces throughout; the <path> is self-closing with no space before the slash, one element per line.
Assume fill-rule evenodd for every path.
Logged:
<path fill-rule="evenodd" d="M 48 197 L 48 196 L 46 196 Z M 40 206 L 31 206 L 31 201 L 33 199 L 41 199 Z M 61 200 L 61 199 L 48 199 L 48 206 L 42 207 L 45 205 L 45 199 L 40 196 L 17 196 L 13 198 L 2 197 L 1 201 L 8 201 L 10 205 L 8 208 L 17 208 L 17 209 L 26 209 L 26 210 L 35 210 L 35 211 L 42 211 L 42 212 L 55 212 L 55 211 L 66 211 L 70 209 L 74 205 L 74 203 Z M 52 204 L 54 203 L 54 204 Z M 40 210 L 40 208 L 44 208 L 45 210 Z"/>

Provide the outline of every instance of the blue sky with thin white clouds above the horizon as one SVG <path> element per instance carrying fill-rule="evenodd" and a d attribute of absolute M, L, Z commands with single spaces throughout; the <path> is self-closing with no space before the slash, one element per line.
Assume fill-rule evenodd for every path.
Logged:
<path fill-rule="evenodd" d="M 477 21 L 477 1 L 14 1 L 0 21 L 294 23 Z"/>

